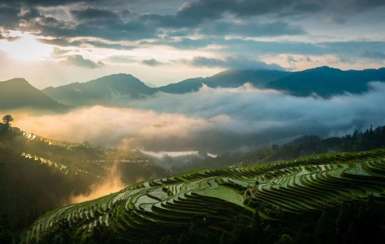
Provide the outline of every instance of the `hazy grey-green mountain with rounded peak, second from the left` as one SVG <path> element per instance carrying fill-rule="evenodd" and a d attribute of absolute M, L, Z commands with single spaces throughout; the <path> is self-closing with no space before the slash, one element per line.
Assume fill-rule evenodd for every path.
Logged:
<path fill-rule="evenodd" d="M 71 83 L 41 90 L 60 103 L 71 106 L 114 105 L 121 98 L 139 99 L 157 90 L 132 75 L 119 73 L 84 83 Z"/>

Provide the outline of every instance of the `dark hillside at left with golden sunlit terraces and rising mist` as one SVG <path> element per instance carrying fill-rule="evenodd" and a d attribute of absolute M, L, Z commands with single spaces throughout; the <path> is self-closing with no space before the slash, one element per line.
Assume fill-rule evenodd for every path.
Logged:
<path fill-rule="evenodd" d="M 105 184 L 123 188 L 164 175 L 167 170 L 139 151 L 53 141 L 27 131 L 0 134 L 0 214 L 11 217 L 23 208 L 64 206 Z"/>

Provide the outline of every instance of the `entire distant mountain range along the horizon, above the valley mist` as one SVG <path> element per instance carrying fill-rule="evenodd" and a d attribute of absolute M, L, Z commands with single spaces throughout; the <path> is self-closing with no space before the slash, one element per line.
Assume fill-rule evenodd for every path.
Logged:
<path fill-rule="evenodd" d="M 202 84 L 214 88 L 239 87 L 246 82 L 260 89 L 276 89 L 293 96 L 317 94 L 329 99 L 344 92 L 367 92 L 367 83 L 371 81 L 385 82 L 385 68 L 342 71 L 322 66 L 297 72 L 226 70 L 211 77 L 190 78 L 162 87 L 151 83 L 146 85 L 130 74 L 119 73 L 83 83 L 48 87 L 41 91 L 26 80 L 16 78 L 0 82 L 0 104 L 3 110 L 32 107 L 64 111 L 71 108 L 69 106 L 122 105 L 119 102 L 146 98 L 156 92 L 197 92 Z"/>

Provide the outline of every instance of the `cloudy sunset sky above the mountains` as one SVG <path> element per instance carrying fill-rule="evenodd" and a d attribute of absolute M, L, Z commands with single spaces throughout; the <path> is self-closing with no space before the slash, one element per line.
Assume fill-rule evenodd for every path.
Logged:
<path fill-rule="evenodd" d="M 0 80 L 39 89 L 130 73 L 385 66 L 382 0 L 0 0 Z"/>

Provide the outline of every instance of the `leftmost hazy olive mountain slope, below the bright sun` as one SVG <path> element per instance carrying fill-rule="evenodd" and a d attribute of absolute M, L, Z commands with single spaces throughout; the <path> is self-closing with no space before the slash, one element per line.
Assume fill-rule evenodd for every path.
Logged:
<path fill-rule="evenodd" d="M 3 111 L 24 108 L 64 112 L 71 108 L 51 99 L 23 78 L 0 82 L 0 104 Z"/>

